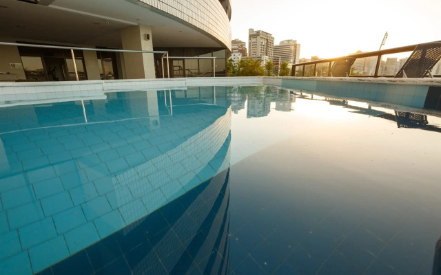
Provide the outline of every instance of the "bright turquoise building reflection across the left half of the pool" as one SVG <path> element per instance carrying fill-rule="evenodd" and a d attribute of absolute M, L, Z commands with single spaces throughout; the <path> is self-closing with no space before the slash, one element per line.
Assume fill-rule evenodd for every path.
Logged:
<path fill-rule="evenodd" d="M 110 93 L 105 100 L 87 100 L 88 123 L 76 102 L 0 109 L 6 119 L 3 129 L 8 130 L 0 134 L 0 154 L 5 153 L 0 158 L 1 184 L 8 186 L 0 197 L 14 188 L 18 196 L 32 190 L 30 219 L 15 217 L 12 213 L 20 206 L 10 203 L 3 206 L 10 213 L 6 227 L 33 239 L 32 230 L 21 228 L 54 221 L 57 234 L 42 236 L 23 248 L 25 253 L 72 230 L 63 241 L 66 254 L 48 258 L 44 265 L 27 257 L 17 264 L 32 266 L 37 273 L 121 228 L 129 234 L 133 229 L 127 225 L 228 168 L 231 113 L 225 87 L 184 91 L 183 98 L 177 92 Z M 33 137 L 32 152 L 23 153 Z M 28 161 L 30 153 L 38 159 Z M 45 192 L 46 184 L 57 194 Z M 64 208 L 53 207 L 60 197 Z M 109 215 L 111 221 L 103 218 Z M 81 230 L 77 234 L 63 225 L 66 219 L 75 219 L 89 238 L 83 240 Z"/>

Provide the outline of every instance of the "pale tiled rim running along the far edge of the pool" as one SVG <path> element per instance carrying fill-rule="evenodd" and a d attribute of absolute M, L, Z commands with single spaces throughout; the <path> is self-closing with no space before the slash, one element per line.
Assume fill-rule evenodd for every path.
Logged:
<path fill-rule="evenodd" d="M 84 80 L 41 83 L 0 83 L 0 107 L 18 104 L 93 99 L 112 91 L 185 89 L 197 86 L 272 85 L 342 98 L 384 102 L 422 109 L 429 87 L 440 78 L 229 77 Z"/>

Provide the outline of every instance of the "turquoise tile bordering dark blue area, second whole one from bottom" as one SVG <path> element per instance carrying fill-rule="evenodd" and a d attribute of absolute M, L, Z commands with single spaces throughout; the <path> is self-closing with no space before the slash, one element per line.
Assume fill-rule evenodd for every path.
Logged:
<path fill-rule="evenodd" d="M 98 232 L 94 223 L 85 223 L 74 230 L 70 230 L 64 234 L 70 254 L 79 252 L 83 248 L 87 248 L 90 244 L 99 241 Z"/>

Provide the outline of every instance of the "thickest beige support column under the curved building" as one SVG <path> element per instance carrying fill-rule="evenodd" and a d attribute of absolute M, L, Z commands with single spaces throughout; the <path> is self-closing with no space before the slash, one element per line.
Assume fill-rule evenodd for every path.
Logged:
<path fill-rule="evenodd" d="M 149 39 L 145 37 L 148 34 Z M 147 25 L 130 26 L 121 30 L 123 50 L 153 50 L 152 29 Z M 155 78 L 153 54 L 125 52 L 125 77 L 128 79 Z"/>

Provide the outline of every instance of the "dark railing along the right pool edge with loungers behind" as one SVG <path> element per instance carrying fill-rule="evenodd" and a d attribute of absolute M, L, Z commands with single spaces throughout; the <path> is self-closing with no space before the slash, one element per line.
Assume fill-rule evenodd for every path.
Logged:
<path fill-rule="evenodd" d="M 440 58 L 441 41 L 435 41 L 298 63 L 292 65 L 291 76 L 441 77 Z M 418 67 L 422 76 L 403 75 L 402 72 L 407 67 Z"/>

